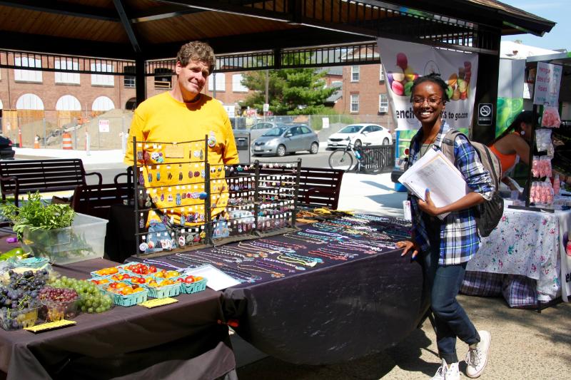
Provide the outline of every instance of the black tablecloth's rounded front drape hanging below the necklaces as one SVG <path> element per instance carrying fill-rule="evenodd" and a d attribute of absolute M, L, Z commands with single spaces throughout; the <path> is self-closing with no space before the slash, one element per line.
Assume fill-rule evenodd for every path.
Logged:
<path fill-rule="evenodd" d="M 428 309 L 423 274 L 400 250 L 224 292 L 236 332 L 295 364 L 331 364 L 397 344 Z"/>

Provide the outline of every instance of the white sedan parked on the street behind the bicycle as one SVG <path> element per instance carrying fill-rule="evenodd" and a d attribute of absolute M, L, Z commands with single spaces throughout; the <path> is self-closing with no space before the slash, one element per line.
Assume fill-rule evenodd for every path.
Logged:
<path fill-rule="evenodd" d="M 385 127 L 378 124 L 350 124 L 329 136 L 327 148 L 345 148 L 349 140 L 355 148 L 363 145 L 363 143 L 367 143 L 367 145 L 390 145 L 393 143 L 390 131 Z"/>

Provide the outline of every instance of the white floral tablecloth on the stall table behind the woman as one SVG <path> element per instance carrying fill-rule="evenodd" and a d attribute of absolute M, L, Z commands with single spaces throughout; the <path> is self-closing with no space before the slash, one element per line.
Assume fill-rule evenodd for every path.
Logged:
<path fill-rule="evenodd" d="M 549 300 L 561 291 L 560 218 L 571 212 L 533 212 L 505 208 L 502 220 L 466 270 L 520 274 L 537 280 L 537 297 Z"/>

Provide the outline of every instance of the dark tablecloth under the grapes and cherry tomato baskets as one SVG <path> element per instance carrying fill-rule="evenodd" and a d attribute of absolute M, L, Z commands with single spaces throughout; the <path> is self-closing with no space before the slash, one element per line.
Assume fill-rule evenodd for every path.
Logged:
<path fill-rule="evenodd" d="M 87 278 L 116 263 L 89 260 L 56 267 Z M 221 294 L 181 294 L 156 309 L 115 307 L 80 314 L 73 327 L 32 334 L 0 330 L 0 369 L 8 379 L 216 379 L 236 366 Z"/>

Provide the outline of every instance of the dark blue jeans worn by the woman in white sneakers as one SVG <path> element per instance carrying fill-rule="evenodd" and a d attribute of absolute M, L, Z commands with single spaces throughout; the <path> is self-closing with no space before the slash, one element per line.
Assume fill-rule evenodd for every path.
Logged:
<path fill-rule="evenodd" d="M 434 240 L 430 242 L 430 252 L 423 253 L 425 286 L 430 290 L 430 307 L 435 317 L 438 354 L 446 363 L 456 363 L 456 337 L 467 344 L 480 342 L 480 335 L 463 307 L 456 301 L 468 263 L 438 265 L 440 242 L 433 244 L 437 243 Z"/>

